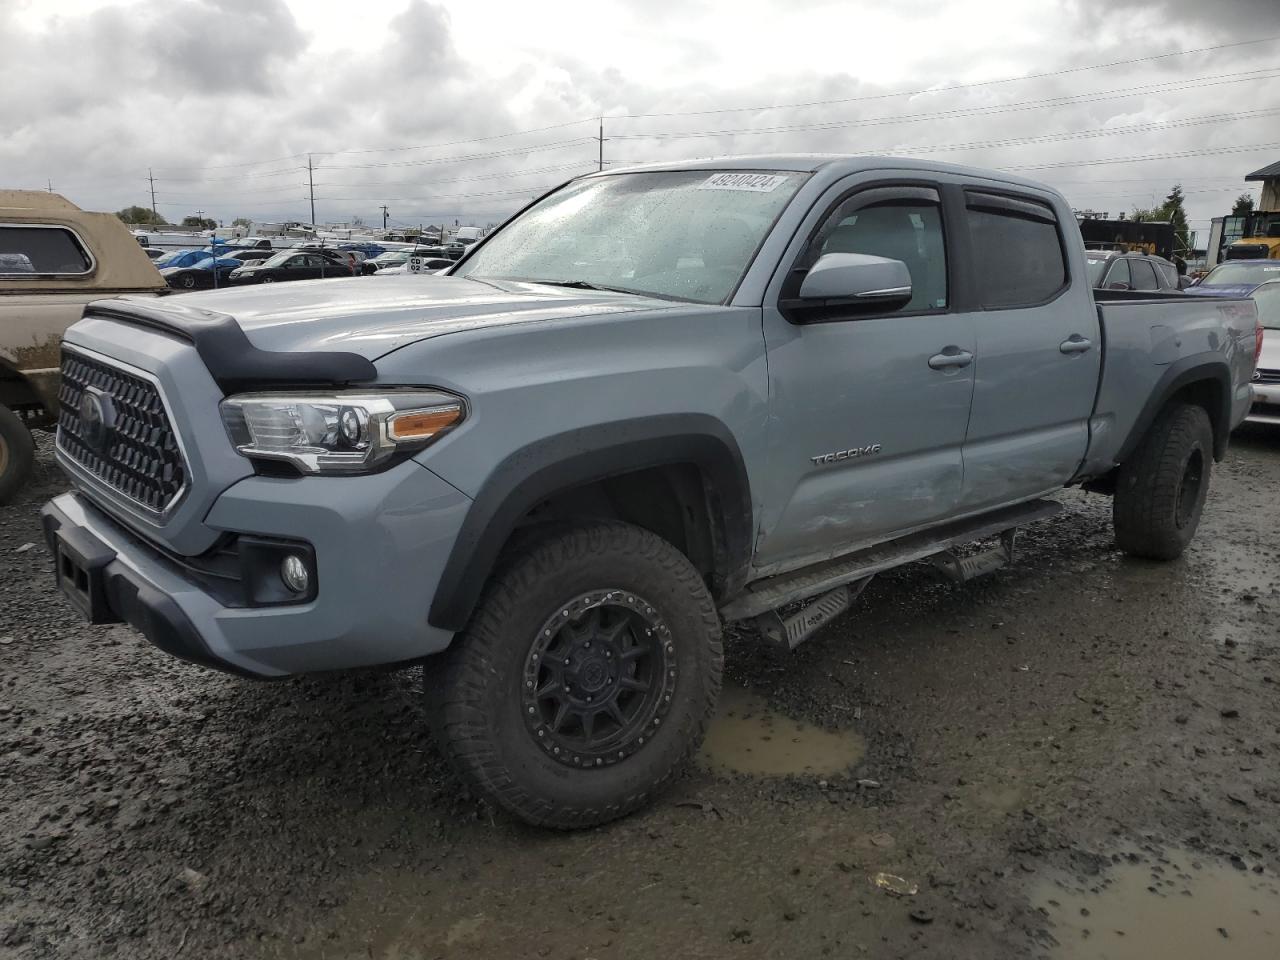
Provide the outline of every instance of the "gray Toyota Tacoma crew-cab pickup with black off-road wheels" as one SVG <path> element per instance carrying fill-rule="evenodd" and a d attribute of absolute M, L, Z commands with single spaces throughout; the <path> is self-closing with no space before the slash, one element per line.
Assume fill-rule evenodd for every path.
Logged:
<path fill-rule="evenodd" d="M 790 648 L 877 572 L 992 570 L 1073 484 L 1178 557 L 1260 343 L 1251 301 L 1091 289 L 1030 180 L 607 172 L 449 275 L 91 305 L 45 531 L 90 620 L 177 657 L 424 663 L 462 776 L 581 827 L 696 748 L 722 622 Z"/>

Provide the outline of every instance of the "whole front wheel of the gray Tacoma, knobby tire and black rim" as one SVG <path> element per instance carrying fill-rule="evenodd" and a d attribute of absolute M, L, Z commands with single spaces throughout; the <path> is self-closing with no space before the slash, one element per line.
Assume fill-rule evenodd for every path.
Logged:
<path fill-rule="evenodd" d="M 572 829 L 644 805 L 699 746 L 719 696 L 716 605 L 675 547 L 628 524 L 507 557 L 425 671 L 462 778 L 522 820 Z"/>

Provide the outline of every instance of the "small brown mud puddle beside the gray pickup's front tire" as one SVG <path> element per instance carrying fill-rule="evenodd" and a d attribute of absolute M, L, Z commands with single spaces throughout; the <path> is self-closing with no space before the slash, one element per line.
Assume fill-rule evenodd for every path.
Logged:
<path fill-rule="evenodd" d="M 726 685 L 698 762 L 717 773 L 829 776 L 847 771 L 865 753 L 852 731 L 801 723 L 771 709 L 759 694 Z"/>

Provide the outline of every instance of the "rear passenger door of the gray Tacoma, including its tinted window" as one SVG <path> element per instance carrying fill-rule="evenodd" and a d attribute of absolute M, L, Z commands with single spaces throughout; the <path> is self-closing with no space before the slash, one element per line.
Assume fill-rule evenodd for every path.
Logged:
<path fill-rule="evenodd" d="M 1029 499 L 1075 474 L 1102 343 L 1082 260 L 1068 255 L 1071 211 L 1060 200 L 970 187 L 964 207 L 979 307 L 960 498 L 960 511 L 972 512 Z"/>

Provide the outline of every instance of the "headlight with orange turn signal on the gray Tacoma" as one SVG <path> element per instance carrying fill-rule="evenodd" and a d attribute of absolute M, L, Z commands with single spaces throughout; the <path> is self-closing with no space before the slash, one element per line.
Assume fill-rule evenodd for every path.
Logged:
<path fill-rule="evenodd" d="M 453 429 L 462 399 L 429 390 L 242 393 L 221 402 L 223 424 L 244 457 L 283 460 L 303 474 L 365 474 Z"/>

